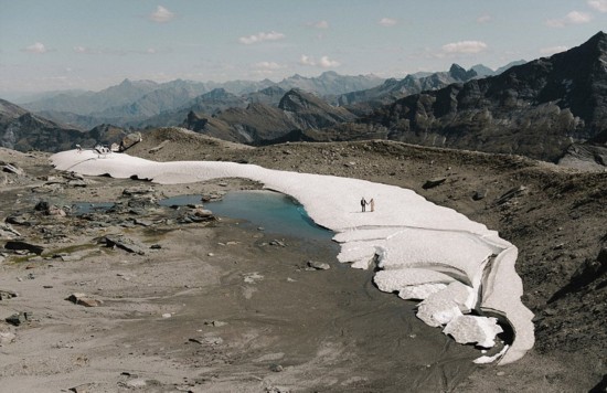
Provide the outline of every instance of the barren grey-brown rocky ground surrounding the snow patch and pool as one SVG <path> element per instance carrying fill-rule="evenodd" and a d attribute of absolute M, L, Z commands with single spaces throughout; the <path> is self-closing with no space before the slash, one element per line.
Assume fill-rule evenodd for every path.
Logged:
<path fill-rule="evenodd" d="M 503 368 L 472 365 L 472 349 L 416 321 L 413 302 L 380 294 L 365 272 L 336 266 L 334 247 L 247 230 L 204 206 L 155 204 L 162 195 L 210 200 L 258 184 L 81 179 L 53 171 L 46 153 L 2 149 L 0 375 L 14 391 L 607 385 L 605 172 L 385 140 L 252 148 L 169 128 L 129 153 L 366 179 L 456 209 L 519 247 L 536 346 Z M 68 209 L 107 201 L 121 203 L 105 213 Z M 310 259 L 331 268 L 310 268 Z"/>

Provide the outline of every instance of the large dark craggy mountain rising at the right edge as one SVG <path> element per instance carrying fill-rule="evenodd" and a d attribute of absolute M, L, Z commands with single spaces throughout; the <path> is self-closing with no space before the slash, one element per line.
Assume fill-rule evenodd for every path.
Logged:
<path fill-rule="evenodd" d="M 607 129 L 607 34 L 498 76 L 404 97 L 363 120 L 388 139 L 558 159 Z"/>

